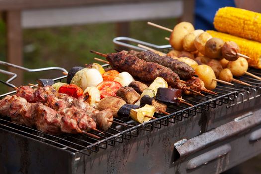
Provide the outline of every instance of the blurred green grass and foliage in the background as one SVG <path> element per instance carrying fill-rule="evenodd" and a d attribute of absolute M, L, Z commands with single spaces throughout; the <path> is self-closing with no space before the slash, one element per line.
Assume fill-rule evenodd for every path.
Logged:
<path fill-rule="evenodd" d="M 176 19 L 153 20 L 152 22 L 173 28 Z M 163 31 L 147 25 L 147 21 L 130 22 L 129 37 L 155 44 L 168 44 Z M 5 24 L 0 19 L 0 60 L 6 61 Z M 103 53 L 114 52 L 112 39 L 116 37 L 115 23 L 87 24 L 81 26 L 64 26 L 23 30 L 23 59 L 27 68 L 59 66 L 69 70 L 73 66 L 83 66 L 94 62 L 96 56 L 90 50 Z M 6 67 L 0 66 L 1 69 Z M 37 78 L 55 78 L 60 72 L 25 73 L 24 84 L 34 83 Z M 0 79 L 6 80 L 0 74 Z M 7 87 L 0 84 L 0 93 L 7 92 Z"/>

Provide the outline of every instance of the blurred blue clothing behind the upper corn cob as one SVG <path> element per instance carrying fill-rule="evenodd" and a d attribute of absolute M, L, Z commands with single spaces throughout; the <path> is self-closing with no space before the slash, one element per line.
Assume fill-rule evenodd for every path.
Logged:
<path fill-rule="evenodd" d="M 214 16 L 219 8 L 235 7 L 234 0 L 196 0 L 195 29 L 214 30 Z"/>

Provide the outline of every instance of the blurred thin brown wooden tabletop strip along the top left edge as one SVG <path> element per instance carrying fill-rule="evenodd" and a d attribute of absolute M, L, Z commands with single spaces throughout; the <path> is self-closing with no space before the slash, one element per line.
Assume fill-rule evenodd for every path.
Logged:
<path fill-rule="evenodd" d="M 158 0 L 0 0 L 0 10 L 72 7 L 95 4 L 155 2 Z M 170 0 L 173 1 L 173 0 Z"/>

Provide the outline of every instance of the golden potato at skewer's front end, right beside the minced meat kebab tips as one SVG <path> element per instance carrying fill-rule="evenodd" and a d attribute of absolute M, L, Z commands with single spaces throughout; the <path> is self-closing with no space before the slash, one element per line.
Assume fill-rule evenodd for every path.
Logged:
<path fill-rule="evenodd" d="M 208 65 L 199 65 L 195 70 L 195 74 L 204 81 L 205 87 L 208 90 L 213 90 L 217 86 L 215 73 L 212 68 Z"/>

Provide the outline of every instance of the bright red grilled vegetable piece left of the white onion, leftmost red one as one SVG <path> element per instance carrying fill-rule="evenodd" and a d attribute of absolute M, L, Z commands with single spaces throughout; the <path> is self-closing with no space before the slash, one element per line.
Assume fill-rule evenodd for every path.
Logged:
<path fill-rule="evenodd" d="M 75 98 L 83 95 L 83 90 L 75 84 L 65 84 L 59 88 L 58 92 Z"/>

